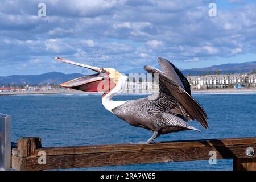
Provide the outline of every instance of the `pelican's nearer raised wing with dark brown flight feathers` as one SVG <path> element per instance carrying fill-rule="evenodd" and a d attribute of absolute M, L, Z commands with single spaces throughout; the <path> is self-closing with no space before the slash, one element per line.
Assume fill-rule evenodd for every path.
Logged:
<path fill-rule="evenodd" d="M 166 64 L 166 63 L 164 63 Z M 169 67 L 170 68 L 170 67 Z M 168 68 L 168 75 L 175 75 L 174 73 L 171 73 Z M 198 104 L 191 96 L 190 94 L 182 87 L 182 85 L 179 85 L 177 80 L 172 80 L 170 77 L 166 75 L 166 73 L 160 71 L 159 69 L 156 69 L 154 67 L 150 66 L 144 66 L 144 69 L 148 73 L 158 73 L 159 74 L 159 97 L 166 97 L 168 100 L 165 102 L 170 102 L 170 104 L 173 106 L 170 108 L 170 112 L 174 114 L 180 114 L 187 118 L 187 119 L 196 119 L 201 123 L 201 125 L 208 129 L 208 123 L 207 123 L 207 114 L 205 113 L 204 109 Z M 175 67 L 175 69 L 177 69 Z M 166 68 L 165 68 L 166 70 Z M 177 69 L 179 70 L 179 69 Z M 177 71 L 175 70 L 177 73 Z M 180 71 L 179 71 L 180 72 Z M 182 74 L 181 72 L 179 74 Z M 177 75 L 179 75 L 177 74 Z M 183 75 L 182 75 L 183 76 Z M 182 78 L 182 76 L 179 76 Z M 173 79 L 176 76 L 172 77 Z M 184 76 L 183 76 L 184 77 Z M 181 81 L 182 82 L 182 81 Z M 190 89 L 189 89 L 190 91 Z M 156 99 L 159 100 L 159 99 Z"/>

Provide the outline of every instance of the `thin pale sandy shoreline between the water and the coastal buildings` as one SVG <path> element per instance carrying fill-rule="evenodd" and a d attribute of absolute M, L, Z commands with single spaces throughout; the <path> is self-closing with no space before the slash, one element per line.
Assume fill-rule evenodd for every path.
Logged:
<path fill-rule="evenodd" d="M 256 88 L 249 89 L 207 89 L 207 90 L 191 90 L 191 93 L 256 93 Z M 0 93 L 0 96 L 15 96 L 15 95 L 41 95 L 41 94 L 100 94 L 95 92 L 82 92 L 79 90 L 49 90 L 49 91 L 35 91 L 35 92 L 7 92 Z M 150 94 L 150 93 L 121 93 L 121 94 Z"/>

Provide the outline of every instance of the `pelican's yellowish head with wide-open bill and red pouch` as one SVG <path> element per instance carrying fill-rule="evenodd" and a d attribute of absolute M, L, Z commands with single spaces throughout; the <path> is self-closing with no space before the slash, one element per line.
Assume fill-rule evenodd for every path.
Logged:
<path fill-rule="evenodd" d="M 122 76 L 121 73 L 113 68 L 92 67 L 89 65 L 65 60 L 59 57 L 56 57 L 55 60 L 78 65 L 80 67 L 88 68 L 97 72 L 93 75 L 75 78 L 74 80 L 70 80 L 60 84 L 60 86 L 63 86 L 65 88 L 81 90 L 84 92 L 104 92 L 103 96 L 105 96 L 106 93 L 110 92 L 110 90 L 112 90 L 115 85 L 118 84 L 119 78 Z"/>

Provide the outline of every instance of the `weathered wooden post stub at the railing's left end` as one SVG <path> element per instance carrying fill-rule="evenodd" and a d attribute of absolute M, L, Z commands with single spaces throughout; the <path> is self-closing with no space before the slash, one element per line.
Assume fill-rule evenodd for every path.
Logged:
<path fill-rule="evenodd" d="M 12 168 L 27 171 L 27 157 L 36 156 L 36 149 L 41 148 L 40 137 L 23 137 L 18 140 L 16 155 L 11 156 Z"/>

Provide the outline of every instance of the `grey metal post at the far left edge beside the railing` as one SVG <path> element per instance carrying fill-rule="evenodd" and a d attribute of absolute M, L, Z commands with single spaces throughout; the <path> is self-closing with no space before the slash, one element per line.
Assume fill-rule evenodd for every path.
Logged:
<path fill-rule="evenodd" d="M 11 116 L 0 113 L 0 171 L 11 168 Z"/>

